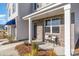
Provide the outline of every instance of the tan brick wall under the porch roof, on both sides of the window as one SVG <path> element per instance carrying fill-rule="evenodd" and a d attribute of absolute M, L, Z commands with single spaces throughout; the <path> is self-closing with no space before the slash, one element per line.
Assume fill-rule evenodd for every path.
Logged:
<path fill-rule="evenodd" d="M 58 15 L 54 17 L 63 18 L 63 16 L 64 15 Z M 34 20 L 33 22 L 37 24 L 37 40 L 43 41 L 44 39 L 44 27 L 43 27 L 44 19 Z M 61 24 L 59 27 L 60 27 L 60 33 L 53 33 L 53 34 L 58 36 L 58 41 L 59 41 L 60 46 L 64 46 L 64 24 Z"/>

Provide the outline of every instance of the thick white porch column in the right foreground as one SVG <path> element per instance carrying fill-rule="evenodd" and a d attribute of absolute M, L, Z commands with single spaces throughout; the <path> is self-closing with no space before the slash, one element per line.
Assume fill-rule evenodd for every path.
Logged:
<path fill-rule="evenodd" d="M 65 20 L 65 55 L 70 56 L 70 24 L 71 24 L 71 13 L 70 13 L 71 4 L 64 6 L 64 20 Z"/>

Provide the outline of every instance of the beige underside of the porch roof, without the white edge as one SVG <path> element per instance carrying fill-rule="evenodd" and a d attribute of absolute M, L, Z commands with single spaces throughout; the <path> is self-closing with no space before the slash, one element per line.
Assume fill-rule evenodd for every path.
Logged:
<path fill-rule="evenodd" d="M 42 18 L 47 18 L 47 17 L 59 15 L 59 14 L 64 14 L 64 9 L 63 8 L 58 9 L 58 10 L 49 10 L 49 11 L 40 13 L 38 15 L 33 16 L 32 19 L 37 20 L 37 19 L 42 19 Z"/>

